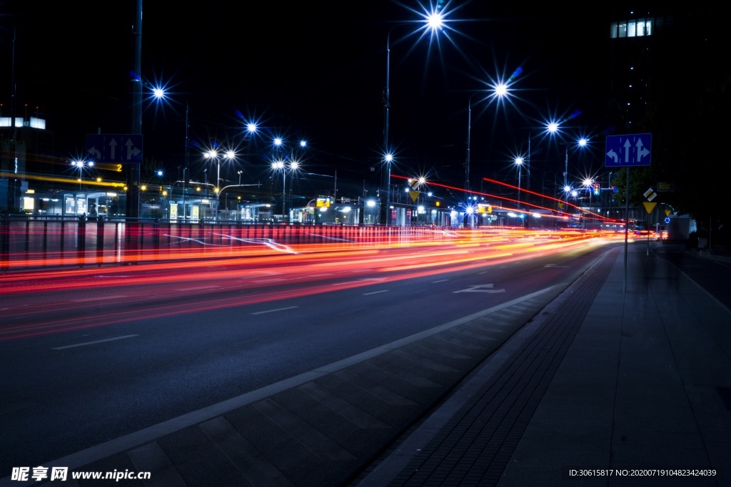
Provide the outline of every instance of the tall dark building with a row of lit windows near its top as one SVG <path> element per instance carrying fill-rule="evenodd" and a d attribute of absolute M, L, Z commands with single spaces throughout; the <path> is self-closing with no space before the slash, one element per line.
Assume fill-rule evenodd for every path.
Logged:
<path fill-rule="evenodd" d="M 618 133 L 633 133 L 648 103 L 668 93 L 677 97 L 678 105 L 688 104 L 709 75 L 718 73 L 716 37 L 726 19 L 720 7 L 702 7 L 643 2 L 613 8 L 607 29 L 608 108 Z"/>

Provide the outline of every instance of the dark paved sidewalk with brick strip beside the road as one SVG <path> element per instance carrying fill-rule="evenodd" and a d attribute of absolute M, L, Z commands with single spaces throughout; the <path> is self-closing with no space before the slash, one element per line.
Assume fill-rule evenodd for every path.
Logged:
<path fill-rule="evenodd" d="M 615 251 L 353 485 L 730 486 L 731 312 Z"/>

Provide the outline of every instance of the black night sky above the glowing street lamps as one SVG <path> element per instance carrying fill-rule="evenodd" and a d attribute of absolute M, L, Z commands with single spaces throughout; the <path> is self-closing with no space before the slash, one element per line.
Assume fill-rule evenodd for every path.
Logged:
<path fill-rule="evenodd" d="M 2 115 L 10 116 L 14 67 L 18 115 L 45 118 L 56 155 L 70 160 L 85 153 L 86 134 L 132 133 L 137 2 L 43 3 L 0 1 Z M 424 2 L 146 1 L 145 159 L 168 172 L 183 163 L 187 104 L 194 177 L 205 148 L 232 145 L 236 164 L 260 179 L 279 135 L 287 144 L 308 140 L 308 170 L 376 183 L 389 32 L 394 174 L 463 187 L 470 99 L 473 187 L 482 176 L 510 177 L 529 134 L 549 118 L 570 127 L 567 137 L 603 142 L 605 15 L 555 5 L 439 5 L 447 27 L 431 37 L 417 31 L 436 6 Z M 473 96 L 499 80 L 511 85 L 508 101 Z M 166 87 L 167 103 L 149 98 L 156 85 Z M 260 126 L 254 139 L 243 137 L 249 121 Z M 532 177 L 562 169 L 555 140 L 537 138 L 531 148 Z M 588 162 L 596 169 L 598 156 Z"/>

